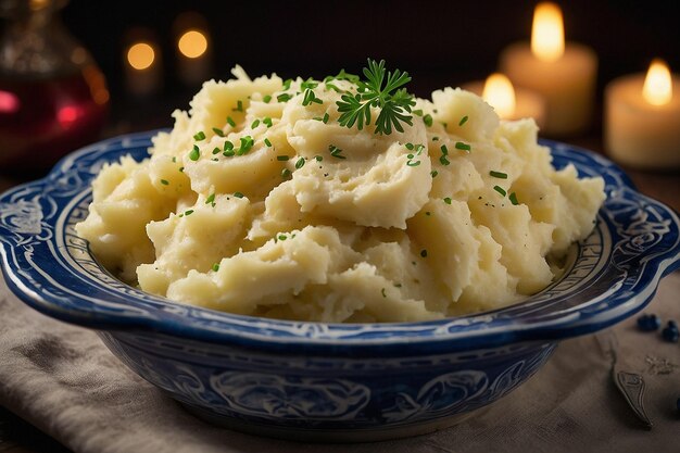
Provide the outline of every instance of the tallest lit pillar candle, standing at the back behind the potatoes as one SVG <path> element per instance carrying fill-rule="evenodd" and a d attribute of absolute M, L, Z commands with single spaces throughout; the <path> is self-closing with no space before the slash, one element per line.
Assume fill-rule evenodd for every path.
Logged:
<path fill-rule="evenodd" d="M 536 91 L 545 100 L 544 134 L 568 136 L 588 128 L 593 114 L 597 58 L 585 46 L 565 45 L 559 7 L 539 3 L 531 45 L 509 46 L 501 54 L 500 66 L 515 86 Z"/>

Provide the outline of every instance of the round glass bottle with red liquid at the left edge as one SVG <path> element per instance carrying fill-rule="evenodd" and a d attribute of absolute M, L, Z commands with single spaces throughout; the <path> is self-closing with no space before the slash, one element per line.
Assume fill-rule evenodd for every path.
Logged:
<path fill-rule="evenodd" d="M 45 173 L 104 126 L 104 76 L 62 25 L 66 2 L 0 0 L 0 174 Z"/>

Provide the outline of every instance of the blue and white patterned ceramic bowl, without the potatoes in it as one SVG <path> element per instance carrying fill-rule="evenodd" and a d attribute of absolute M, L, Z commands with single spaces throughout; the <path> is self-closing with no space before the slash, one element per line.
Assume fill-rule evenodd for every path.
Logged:
<path fill-rule="evenodd" d="M 105 162 L 147 155 L 154 133 L 64 159 L 0 198 L 10 288 L 34 309 L 97 329 L 126 365 L 212 421 L 267 436 L 365 441 L 451 425 L 531 377 L 562 339 L 644 307 L 679 265 L 678 215 L 635 191 L 614 164 L 546 142 L 554 164 L 602 175 L 607 200 L 568 272 L 526 302 L 410 324 L 341 325 L 230 315 L 122 284 L 74 225 Z"/>

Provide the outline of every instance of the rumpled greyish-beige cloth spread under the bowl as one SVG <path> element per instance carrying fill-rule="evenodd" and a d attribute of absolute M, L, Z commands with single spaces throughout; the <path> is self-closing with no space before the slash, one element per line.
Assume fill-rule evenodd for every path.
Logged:
<path fill-rule="evenodd" d="M 680 320 L 680 274 L 645 313 Z M 563 342 L 527 383 L 466 421 L 411 439 L 303 444 L 213 427 L 128 370 L 93 331 L 27 307 L 0 277 L 0 404 L 75 452 L 670 452 L 680 449 L 680 344 L 618 325 L 619 357 L 644 376 L 654 428 L 617 392 L 595 336 Z M 601 334 L 608 335 L 608 332 Z"/>

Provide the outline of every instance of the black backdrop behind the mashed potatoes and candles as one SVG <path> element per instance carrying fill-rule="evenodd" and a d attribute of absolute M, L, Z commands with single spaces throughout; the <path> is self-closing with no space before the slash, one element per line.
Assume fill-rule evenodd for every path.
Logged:
<path fill-rule="evenodd" d="M 215 77 L 228 77 L 238 63 L 251 76 L 276 72 L 284 78 L 320 78 L 341 67 L 358 72 L 372 56 L 411 73 L 411 91 L 426 97 L 433 89 L 484 78 L 493 72 L 505 46 L 529 39 L 536 3 L 72 0 L 62 18 L 106 75 L 113 121 L 134 111 L 140 118 L 162 116 L 162 125 L 169 126 L 173 108 L 187 108 L 199 88 L 184 86 L 175 76 L 173 22 L 182 12 L 194 11 L 209 21 Z M 559 4 L 567 40 L 591 46 L 600 58 L 600 96 L 608 80 L 645 71 L 655 56 L 680 72 L 680 1 L 576 0 Z M 124 36 L 137 26 L 155 33 L 165 68 L 163 92 L 141 103 L 125 95 L 122 79 Z"/>

